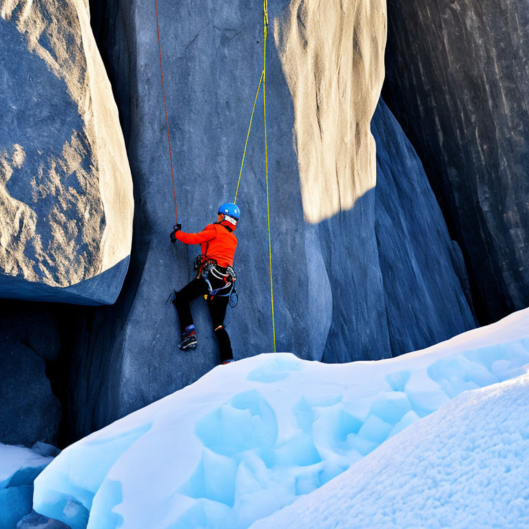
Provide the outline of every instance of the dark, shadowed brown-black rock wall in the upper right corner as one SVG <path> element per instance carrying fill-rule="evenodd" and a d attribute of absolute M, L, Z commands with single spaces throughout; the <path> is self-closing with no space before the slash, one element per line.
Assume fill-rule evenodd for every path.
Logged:
<path fill-rule="evenodd" d="M 527 1 L 388 1 L 384 98 L 461 246 L 479 320 L 529 304 Z"/>

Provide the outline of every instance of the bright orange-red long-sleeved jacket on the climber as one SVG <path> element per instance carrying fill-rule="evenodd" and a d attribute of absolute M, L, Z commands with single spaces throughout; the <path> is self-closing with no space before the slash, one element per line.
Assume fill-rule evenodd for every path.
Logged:
<path fill-rule="evenodd" d="M 215 259 L 221 267 L 231 267 L 234 264 L 237 238 L 222 222 L 209 224 L 198 234 L 177 231 L 174 236 L 186 245 L 200 245 L 203 255 Z"/>

